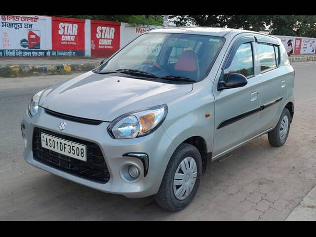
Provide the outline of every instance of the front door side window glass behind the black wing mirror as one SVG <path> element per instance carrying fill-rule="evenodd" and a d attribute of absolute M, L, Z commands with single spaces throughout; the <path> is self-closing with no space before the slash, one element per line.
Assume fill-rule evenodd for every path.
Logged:
<path fill-rule="evenodd" d="M 231 65 L 224 70 L 224 80 L 231 73 L 239 73 L 245 77 L 254 75 L 251 43 L 244 43 L 238 47 Z"/>

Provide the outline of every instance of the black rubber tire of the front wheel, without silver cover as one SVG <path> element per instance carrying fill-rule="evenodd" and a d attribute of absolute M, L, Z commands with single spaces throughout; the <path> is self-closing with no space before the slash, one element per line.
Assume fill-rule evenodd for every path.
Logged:
<path fill-rule="evenodd" d="M 173 178 L 175 172 L 181 163 L 187 157 L 195 159 L 197 164 L 197 178 L 195 185 L 188 197 L 183 200 L 179 200 L 175 197 L 173 192 Z M 202 173 L 202 158 L 197 148 L 188 143 L 182 143 L 172 154 L 163 179 L 160 184 L 158 193 L 155 195 L 158 205 L 169 211 L 180 211 L 187 207 L 197 193 L 197 189 L 200 183 L 200 177 Z"/>

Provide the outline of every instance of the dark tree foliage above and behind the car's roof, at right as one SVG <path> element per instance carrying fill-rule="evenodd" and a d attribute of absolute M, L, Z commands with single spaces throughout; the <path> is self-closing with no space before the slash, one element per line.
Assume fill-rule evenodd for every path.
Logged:
<path fill-rule="evenodd" d="M 267 28 L 272 35 L 316 38 L 316 16 L 274 15 L 182 15 L 174 20 L 177 26 L 228 27 L 252 31 Z"/>

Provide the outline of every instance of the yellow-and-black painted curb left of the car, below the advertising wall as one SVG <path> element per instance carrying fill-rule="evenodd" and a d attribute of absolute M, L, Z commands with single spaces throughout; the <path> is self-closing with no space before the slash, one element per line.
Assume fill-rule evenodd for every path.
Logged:
<path fill-rule="evenodd" d="M 0 77 L 28 77 L 37 75 L 67 75 L 74 72 L 87 72 L 96 63 L 58 64 L 58 65 L 0 65 Z"/>

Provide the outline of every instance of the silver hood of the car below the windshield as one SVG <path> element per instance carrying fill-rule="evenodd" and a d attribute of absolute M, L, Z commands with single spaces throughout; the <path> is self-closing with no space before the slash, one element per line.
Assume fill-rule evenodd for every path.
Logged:
<path fill-rule="evenodd" d="M 80 118 L 113 121 L 125 113 L 168 103 L 192 89 L 193 84 L 169 84 L 87 72 L 47 87 L 40 98 L 40 106 Z"/>

